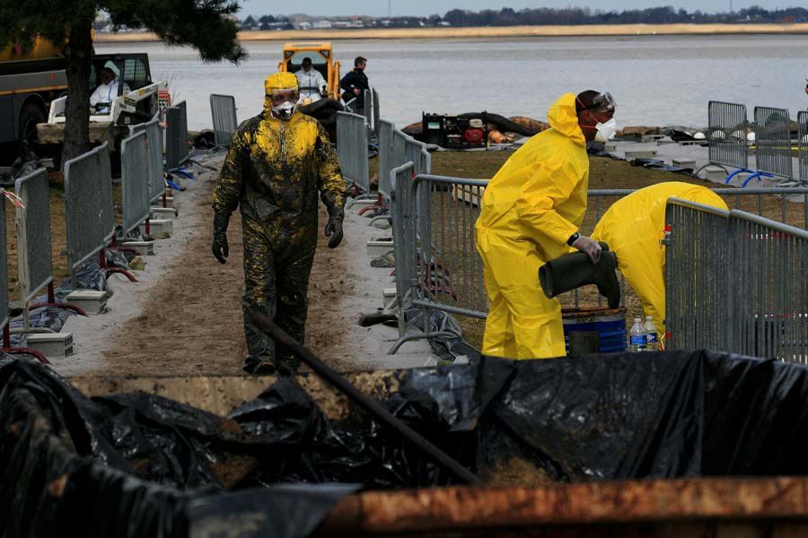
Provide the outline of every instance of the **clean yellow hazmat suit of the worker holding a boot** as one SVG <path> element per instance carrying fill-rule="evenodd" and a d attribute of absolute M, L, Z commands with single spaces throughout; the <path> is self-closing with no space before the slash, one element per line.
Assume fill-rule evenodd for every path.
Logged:
<path fill-rule="evenodd" d="M 550 128 L 515 152 L 486 187 L 475 226 L 490 301 L 483 353 L 508 359 L 566 355 L 561 304 L 539 267 L 565 254 L 586 212 L 589 158 L 575 95 L 550 107 Z"/>

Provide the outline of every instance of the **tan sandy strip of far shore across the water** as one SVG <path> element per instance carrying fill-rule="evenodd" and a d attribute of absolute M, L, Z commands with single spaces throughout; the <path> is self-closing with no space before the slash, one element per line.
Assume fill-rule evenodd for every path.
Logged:
<path fill-rule="evenodd" d="M 294 39 L 507 39 L 558 36 L 650 36 L 714 34 L 808 33 L 808 24 L 593 24 L 583 26 L 505 26 L 477 28 L 392 28 L 386 30 L 281 30 L 240 31 L 242 41 Z M 96 33 L 95 41 L 156 41 L 154 34 Z"/>

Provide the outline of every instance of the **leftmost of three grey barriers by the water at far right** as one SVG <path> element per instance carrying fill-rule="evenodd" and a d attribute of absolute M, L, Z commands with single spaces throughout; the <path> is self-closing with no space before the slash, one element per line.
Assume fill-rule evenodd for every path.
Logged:
<path fill-rule="evenodd" d="M 710 163 L 749 171 L 746 106 L 710 101 L 707 105 L 707 117 Z"/>

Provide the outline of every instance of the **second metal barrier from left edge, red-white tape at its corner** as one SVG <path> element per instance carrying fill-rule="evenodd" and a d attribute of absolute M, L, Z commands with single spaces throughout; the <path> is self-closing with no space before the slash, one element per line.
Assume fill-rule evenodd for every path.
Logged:
<path fill-rule="evenodd" d="M 16 210 L 15 224 L 20 301 L 27 306 L 42 288 L 53 281 L 47 171 L 38 169 L 17 178 L 14 192 L 22 201 L 22 207 Z"/>

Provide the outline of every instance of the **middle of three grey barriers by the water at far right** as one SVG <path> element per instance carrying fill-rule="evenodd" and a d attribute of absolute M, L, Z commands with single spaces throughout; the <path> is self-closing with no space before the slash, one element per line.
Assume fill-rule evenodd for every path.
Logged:
<path fill-rule="evenodd" d="M 794 178 L 787 108 L 755 107 L 755 162 L 760 172 Z"/>

